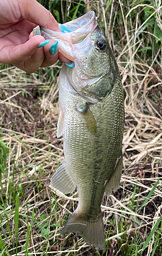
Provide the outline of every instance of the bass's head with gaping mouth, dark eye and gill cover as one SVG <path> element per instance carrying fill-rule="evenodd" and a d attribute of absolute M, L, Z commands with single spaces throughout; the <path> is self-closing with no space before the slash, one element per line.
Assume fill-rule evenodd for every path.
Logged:
<path fill-rule="evenodd" d="M 71 32 L 43 31 L 51 33 L 52 38 L 58 40 L 59 51 L 75 62 L 74 68 L 68 68 L 72 86 L 84 96 L 91 94 L 96 100 L 104 98 L 112 90 L 118 66 L 95 12 L 90 11 L 64 26 Z M 103 79 L 109 79 L 109 89 L 102 88 Z"/>

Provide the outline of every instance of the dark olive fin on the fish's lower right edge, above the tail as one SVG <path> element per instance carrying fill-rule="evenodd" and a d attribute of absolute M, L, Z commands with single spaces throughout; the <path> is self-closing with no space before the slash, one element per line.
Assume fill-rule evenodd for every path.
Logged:
<path fill-rule="evenodd" d="M 106 195 L 110 195 L 113 191 L 116 191 L 119 187 L 119 183 L 121 180 L 122 175 L 122 168 L 123 168 L 123 155 L 117 159 L 117 163 L 114 167 L 114 173 L 112 174 L 111 178 L 107 181 L 105 185 L 105 193 Z"/>

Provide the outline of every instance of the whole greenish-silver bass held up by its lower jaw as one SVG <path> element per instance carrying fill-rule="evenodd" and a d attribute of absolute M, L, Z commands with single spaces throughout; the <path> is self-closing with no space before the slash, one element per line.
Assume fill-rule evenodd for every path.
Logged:
<path fill-rule="evenodd" d="M 105 234 L 101 201 L 118 189 L 123 166 L 123 88 L 119 68 L 95 12 L 65 23 L 71 32 L 41 28 L 45 39 L 58 40 L 59 51 L 74 61 L 59 75 L 64 160 L 51 178 L 62 193 L 77 187 L 79 203 L 61 230 L 77 233 L 101 250 Z"/>

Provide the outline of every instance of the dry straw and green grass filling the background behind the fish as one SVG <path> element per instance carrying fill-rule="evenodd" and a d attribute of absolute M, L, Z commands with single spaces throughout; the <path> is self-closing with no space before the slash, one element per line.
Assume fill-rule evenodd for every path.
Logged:
<path fill-rule="evenodd" d="M 39 2 L 64 23 L 95 10 L 121 71 L 124 166 L 119 189 L 102 202 L 106 246 L 60 235 L 78 203 L 50 178 L 63 159 L 57 139 L 61 62 L 26 74 L 0 70 L 0 255 L 159 256 L 162 253 L 161 1 Z"/>

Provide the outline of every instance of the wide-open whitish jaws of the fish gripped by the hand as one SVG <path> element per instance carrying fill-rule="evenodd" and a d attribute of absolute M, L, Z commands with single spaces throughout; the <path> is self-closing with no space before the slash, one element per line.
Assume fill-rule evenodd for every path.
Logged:
<path fill-rule="evenodd" d="M 59 51 L 68 59 L 75 61 L 75 50 L 76 45 L 82 42 L 90 33 L 92 33 L 96 26 L 97 21 L 94 11 L 89 11 L 83 16 L 71 20 L 63 24 L 71 32 L 65 31 L 58 32 L 45 28 L 40 28 L 41 35 L 45 39 L 55 39 L 58 40 Z M 59 24 L 59 29 L 61 30 L 61 25 Z"/>

